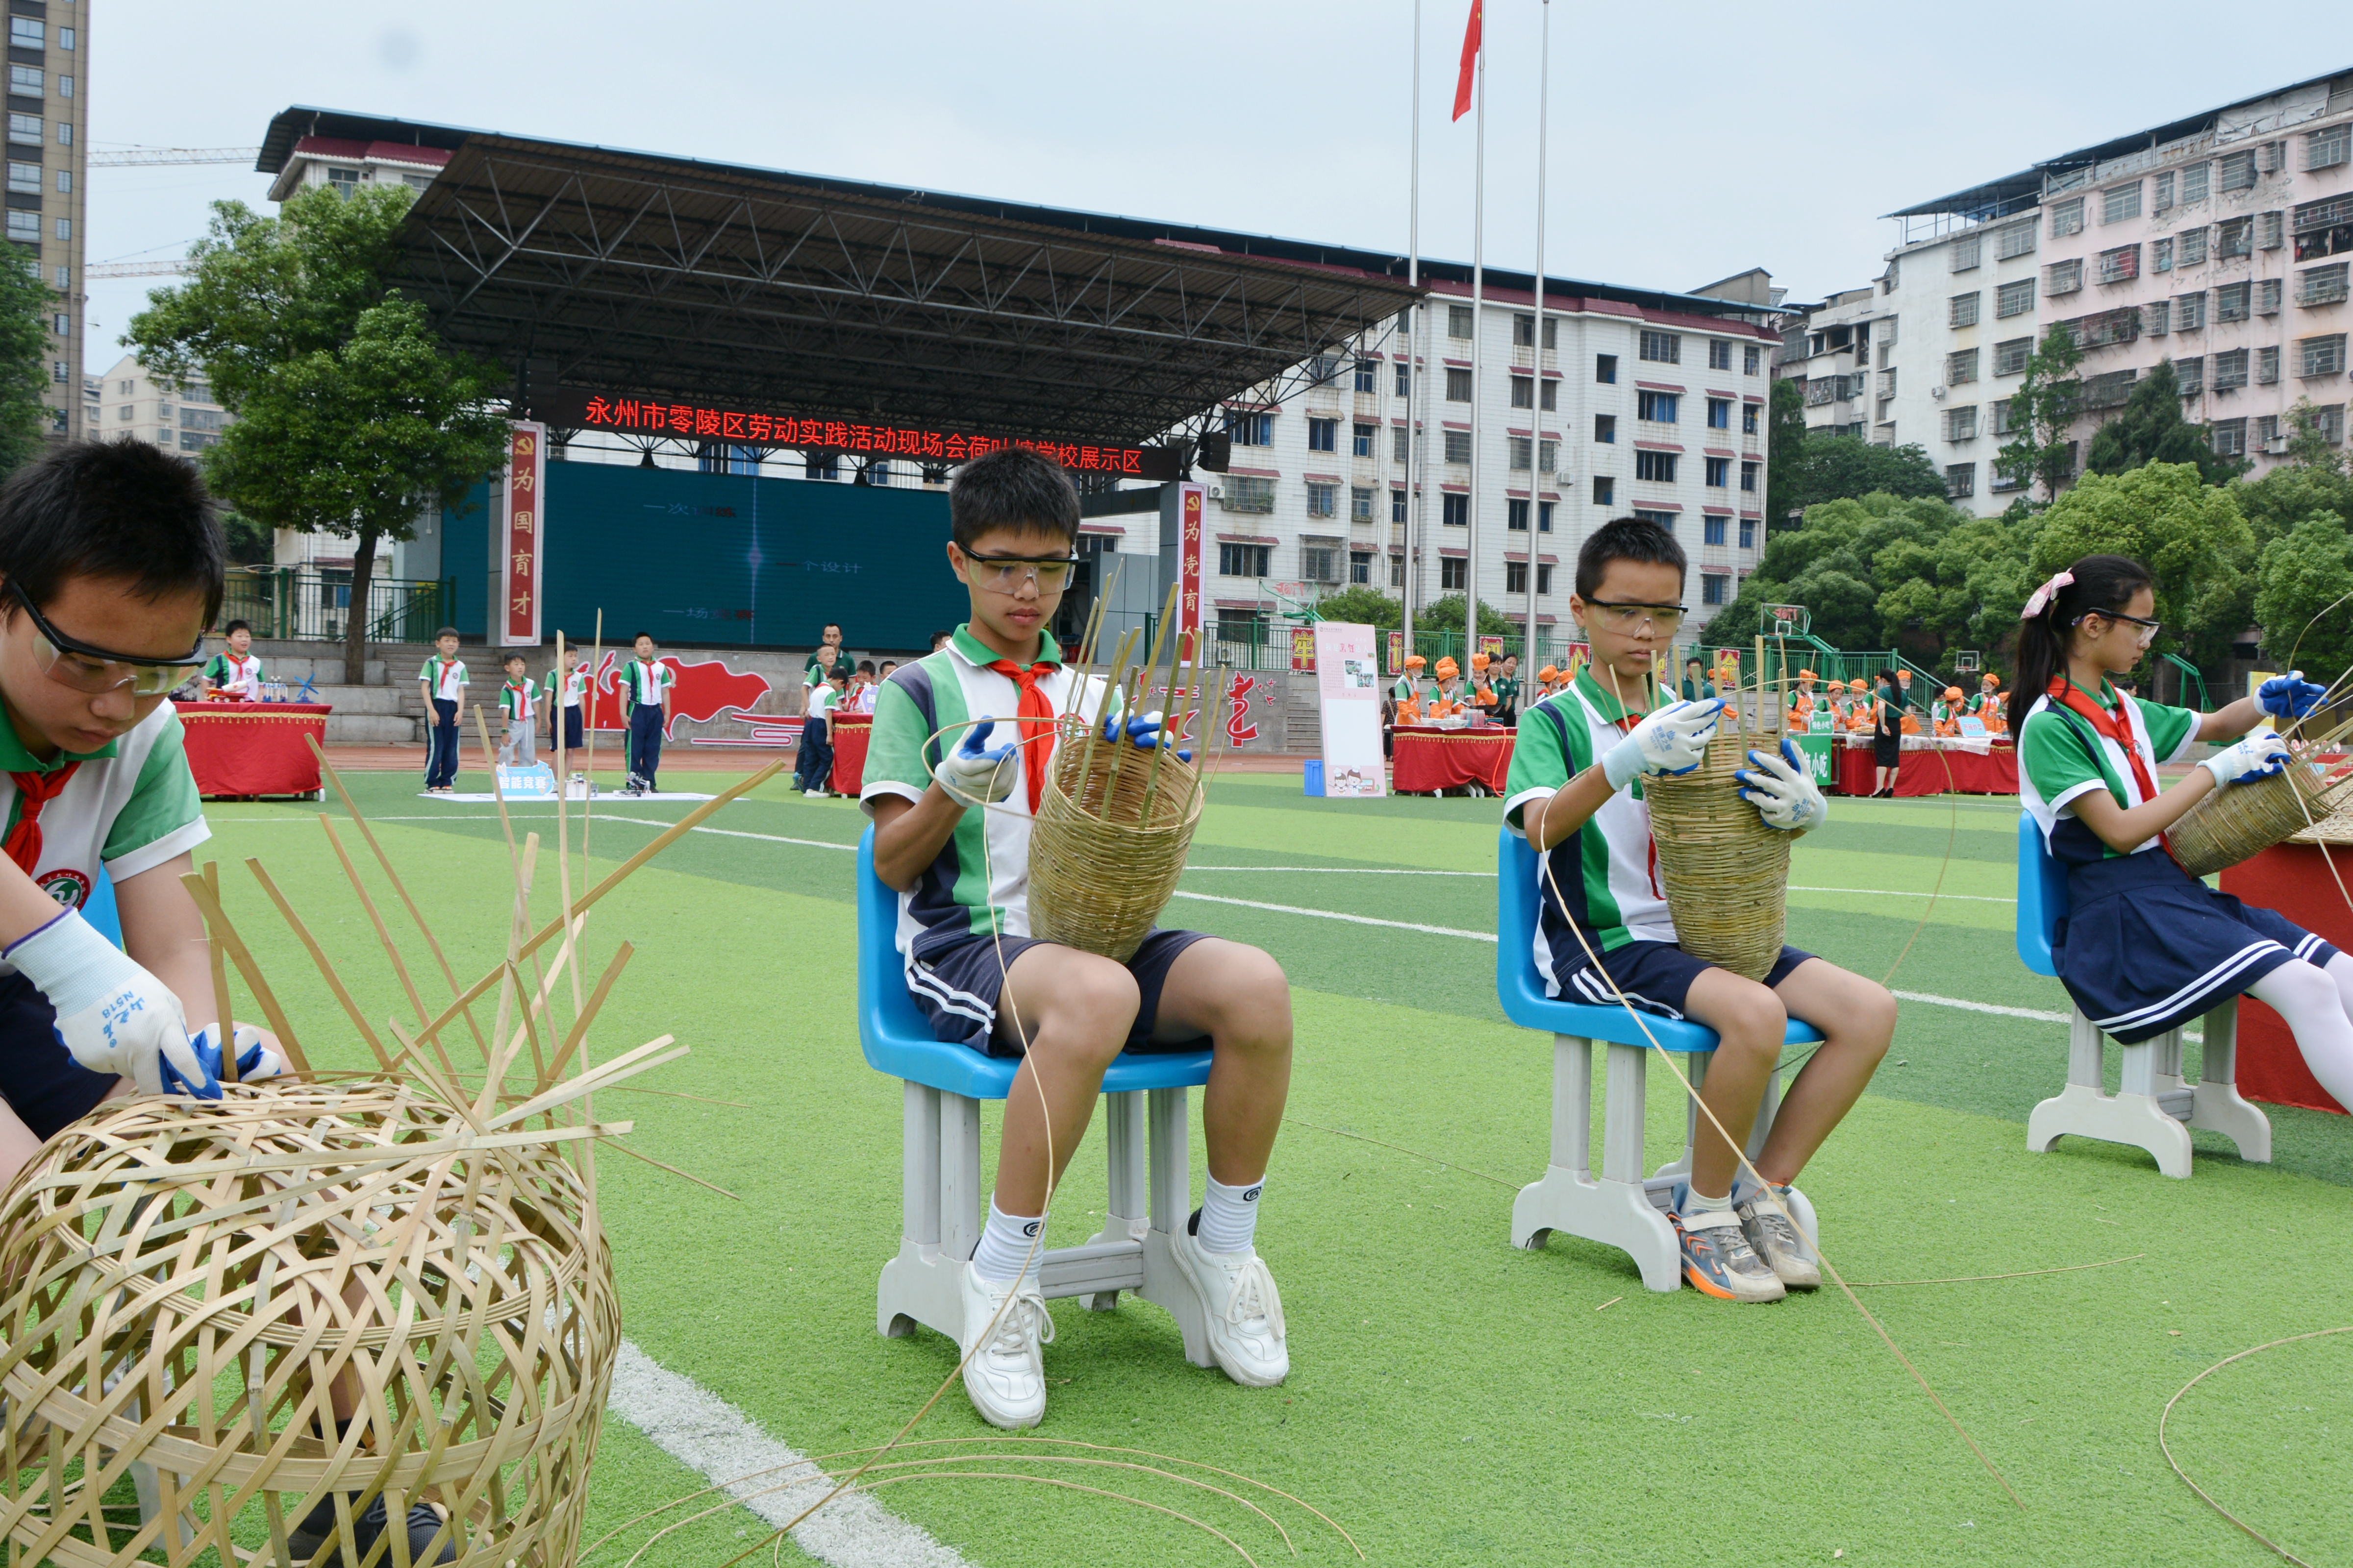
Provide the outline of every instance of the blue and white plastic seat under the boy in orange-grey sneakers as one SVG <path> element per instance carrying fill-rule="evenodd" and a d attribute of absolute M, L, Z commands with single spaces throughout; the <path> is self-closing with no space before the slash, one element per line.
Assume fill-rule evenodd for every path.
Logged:
<path fill-rule="evenodd" d="M 1621 1006 L 1581 1006 L 1544 994 L 1537 978 L 1537 851 L 1506 827 L 1494 849 L 1497 860 L 1497 952 L 1494 990 L 1504 1016 L 1553 1037 L 1553 1157 L 1541 1180 L 1520 1187 L 1511 1204 L 1511 1244 L 1537 1248 L 1562 1229 L 1586 1241 L 1617 1246 L 1633 1255 L 1642 1284 L 1652 1291 L 1682 1286 L 1682 1251 L 1675 1227 L 1666 1222 L 1673 1187 L 1692 1171 L 1692 1135 L 1699 1107 L 1685 1112 L 1682 1159 L 1642 1175 L 1642 1088 L 1649 1067 L 1649 1034 L 1666 1051 L 1685 1053 L 1694 1086 L 1708 1077 L 1715 1053 L 1715 1030 L 1678 1018 L 1645 1013 L 1635 1023 Z M 1784 1044 L 1819 1044 L 1821 1034 L 1795 1018 Z M 1609 1079 L 1602 1100 L 1602 1173 L 1593 1178 L 1593 1041 L 1609 1046 Z M 1765 1079 L 1755 1131 L 1748 1133 L 1748 1159 L 1765 1150 L 1774 1110 L 1781 1103 L 1781 1070 Z M 1791 1211 L 1809 1234 L 1821 1234 L 1814 1206 L 1791 1187 Z"/>

